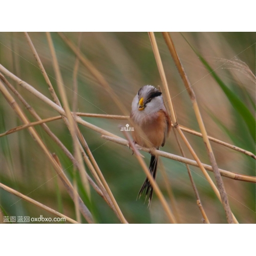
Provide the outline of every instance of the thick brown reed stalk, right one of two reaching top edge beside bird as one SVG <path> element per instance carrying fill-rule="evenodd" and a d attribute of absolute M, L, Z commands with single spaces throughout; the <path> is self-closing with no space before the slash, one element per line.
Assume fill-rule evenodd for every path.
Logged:
<path fill-rule="evenodd" d="M 218 186 L 218 189 L 219 189 L 219 192 L 220 192 L 221 201 L 222 201 L 222 204 L 223 204 L 223 207 L 224 207 L 224 210 L 225 210 L 227 221 L 228 221 L 228 223 L 233 223 L 234 220 L 233 220 L 232 212 L 231 212 L 231 209 L 230 209 L 230 206 L 229 206 L 229 201 L 228 201 L 228 197 L 227 197 L 227 194 L 226 194 L 225 186 L 224 186 L 223 180 L 221 178 L 221 174 L 219 172 L 219 168 L 218 168 L 215 156 L 214 156 L 214 152 L 212 151 L 212 148 L 211 148 L 208 136 L 207 136 L 207 132 L 206 132 L 206 129 L 205 129 L 205 126 L 204 126 L 204 122 L 203 122 L 203 119 L 202 119 L 202 116 L 201 116 L 201 113 L 200 113 L 200 110 L 199 110 L 199 106 L 198 106 L 198 103 L 197 103 L 196 94 L 195 94 L 194 90 L 191 88 L 191 84 L 188 80 L 188 77 L 187 77 L 187 75 L 184 71 L 184 68 L 182 66 L 182 63 L 179 59 L 179 56 L 178 56 L 177 51 L 175 49 L 172 37 L 170 37 L 170 34 L 168 32 L 163 32 L 162 34 L 163 34 L 163 37 L 165 39 L 166 45 L 167 45 L 167 47 L 170 51 L 170 54 L 173 57 L 175 65 L 176 65 L 176 67 L 179 71 L 179 74 L 180 74 L 180 76 L 183 80 L 186 91 L 187 91 L 187 93 L 190 97 L 190 100 L 191 100 L 192 104 L 193 104 L 193 108 L 194 108 L 194 111 L 195 111 L 195 114 L 196 114 L 197 122 L 199 124 L 200 131 L 201 131 L 202 136 L 203 136 L 203 141 L 204 141 L 205 146 L 206 146 L 206 151 L 207 151 L 212 169 L 214 170 L 214 176 L 215 176 L 217 186 Z"/>

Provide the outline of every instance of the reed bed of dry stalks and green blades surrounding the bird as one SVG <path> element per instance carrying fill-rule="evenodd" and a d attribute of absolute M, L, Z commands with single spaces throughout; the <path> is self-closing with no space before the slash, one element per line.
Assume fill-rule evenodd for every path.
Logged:
<path fill-rule="evenodd" d="M 255 63 L 247 51 L 256 46 L 227 38 L 0 33 L 1 216 L 255 223 Z M 144 84 L 159 86 L 173 126 L 154 151 L 156 181 L 150 150 L 120 131 L 132 125 L 130 105 Z M 136 200 L 144 175 L 155 191 L 150 208 Z"/>

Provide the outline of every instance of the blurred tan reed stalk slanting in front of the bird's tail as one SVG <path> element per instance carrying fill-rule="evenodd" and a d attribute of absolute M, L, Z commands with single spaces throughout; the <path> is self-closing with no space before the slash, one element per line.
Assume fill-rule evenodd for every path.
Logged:
<path fill-rule="evenodd" d="M 146 177 L 148 178 L 148 180 L 150 181 L 153 189 L 155 190 L 156 195 L 159 198 L 159 201 L 161 202 L 164 211 L 166 212 L 167 217 L 169 218 L 170 223 L 176 223 L 175 217 L 172 213 L 172 211 L 170 210 L 163 194 L 161 193 L 161 190 L 159 189 L 155 179 L 153 178 L 153 176 L 151 175 L 150 171 L 148 170 L 148 167 L 146 166 L 146 163 L 144 162 L 143 158 L 140 156 L 140 153 L 137 149 L 137 147 L 135 146 L 134 142 L 129 138 L 129 136 L 123 132 L 124 136 L 126 137 L 126 139 L 129 141 L 129 144 L 131 145 L 136 158 L 139 161 L 139 164 L 141 165 L 142 169 L 144 170 L 144 173 L 146 174 Z"/>

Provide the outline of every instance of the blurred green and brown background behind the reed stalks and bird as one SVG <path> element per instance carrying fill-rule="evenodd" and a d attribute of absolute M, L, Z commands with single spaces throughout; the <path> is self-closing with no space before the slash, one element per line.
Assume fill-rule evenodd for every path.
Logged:
<path fill-rule="evenodd" d="M 46 34 L 34 32 L 29 33 L 29 35 L 59 96 Z M 66 93 L 70 106 L 72 106 L 72 75 L 76 56 L 57 33 L 51 33 L 51 35 L 66 86 Z M 70 32 L 65 33 L 65 35 L 77 45 L 79 33 Z M 161 33 L 155 33 L 155 35 L 178 122 L 199 131 L 190 99 L 184 90 L 184 84 L 164 39 Z M 189 44 L 203 56 L 225 86 L 230 89 L 228 92 L 236 95 L 254 118 L 256 33 L 184 32 L 181 34 L 173 32 L 170 35 L 174 40 L 187 76 L 193 85 L 208 135 L 254 153 L 254 138 L 249 131 L 248 122 L 243 118 L 243 112 L 240 113 L 234 107 L 232 99 L 225 94 L 216 78 L 209 74 L 209 70 L 205 68 Z M 145 84 L 161 86 L 161 79 L 150 40 L 145 32 L 83 32 L 80 49 L 110 83 L 111 88 L 118 95 L 128 112 L 131 110 L 133 97 L 140 87 Z M 0 63 L 31 84 L 39 92 L 52 99 L 24 33 L 0 33 Z M 79 94 L 77 111 L 122 115 L 108 92 L 100 86 L 81 63 L 77 79 Z M 19 88 L 15 82 L 9 81 L 33 106 L 41 118 L 58 115 L 47 104 L 38 100 L 23 88 Z M 34 121 L 24 106 L 18 100 L 17 102 L 30 121 Z M 119 125 L 124 126 L 127 123 L 127 121 L 113 119 L 87 117 L 83 117 L 83 119 L 120 137 L 123 137 L 123 135 L 120 132 Z M 0 133 L 20 124 L 22 123 L 3 95 L 0 94 Z M 48 123 L 48 125 L 52 132 L 73 153 L 72 138 L 63 121 L 57 120 Z M 127 221 L 129 223 L 168 223 L 166 214 L 156 195 L 153 196 L 150 209 L 147 208 L 147 203 L 144 204 L 143 198 L 136 200 L 145 174 L 135 156 L 132 156 L 131 150 L 113 142 L 106 142 L 106 140 L 100 138 L 98 133 L 86 127 L 81 125 L 79 127 Z M 50 151 L 57 154 L 65 173 L 72 179 L 73 167 L 71 161 L 52 142 L 40 126 L 36 126 L 36 130 Z M 185 135 L 200 160 L 209 164 L 203 140 L 190 134 Z M 220 168 L 255 176 L 255 161 L 252 158 L 213 142 L 211 142 L 211 145 Z M 186 157 L 192 159 L 185 145 L 183 145 L 183 149 Z M 173 131 L 162 150 L 181 155 Z M 148 165 L 150 155 L 142 154 L 145 156 Z M 169 186 L 176 198 L 180 222 L 202 223 L 202 216 L 185 165 L 165 158 L 161 158 L 161 162 L 164 168 L 159 165 L 157 183 L 167 202 L 170 202 L 162 175 L 162 171 L 165 170 Z M 86 169 L 88 170 L 87 166 Z M 190 169 L 209 221 L 211 223 L 226 223 L 223 207 L 200 169 L 193 166 L 190 166 Z M 209 174 L 214 180 L 212 173 Z M 0 182 L 18 190 L 20 193 L 29 194 L 29 197 L 75 219 L 74 203 L 58 177 L 52 178 L 54 176 L 55 172 L 51 163 L 27 130 L 0 138 Z M 229 195 L 231 209 L 238 221 L 241 223 L 255 223 L 255 184 L 225 177 L 223 181 Z M 78 185 L 81 198 L 88 203 L 80 180 Z M 91 191 L 92 200 L 88 207 L 92 211 L 96 222 L 119 223 L 105 201 L 93 189 Z M 19 198 L 2 189 L 0 189 L 0 204 L 3 210 L 0 215 L 1 222 L 3 222 L 3 216 L 5 215 L 55 217 L 34 205 L 19 200 Z M 84 219 L 83 222 L 86 223 Z"/>

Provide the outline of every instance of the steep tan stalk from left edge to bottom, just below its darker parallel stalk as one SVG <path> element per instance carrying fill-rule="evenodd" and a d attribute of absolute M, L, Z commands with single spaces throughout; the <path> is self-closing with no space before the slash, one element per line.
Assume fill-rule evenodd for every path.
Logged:
<path fill-rule="evenodd" d="M 12 106 L 13 110 L 16 112 L 16 114 L 18 115 L 20 120 L 22 120 L 24 123 L 29 123 L 28 118 L 23 113 L 23 111 L 19 108 L 19 105 L 17 104 L 17 102 L 14 100 L 14 98 L 11 96 L 11 94 L 7 91 L 7 89 L 5 88 L 4 84 L 1 81 L 0 81 L 0 91 L 3 93 L 3 95 L 6 98 L 6 100 L 8 101 L 8 103 Z M 34 127 L 29 127 L 28 129 L 29 129 L 31 136 L 35 139 L 35 141 L 42 148 L 42 151 L 44 151 L 46 156 L 49 158 L 50 162 L 52 163 L 52 165 L 53 165 L 54 169 L 56 170 L 57 174 L 59 175 L 59 177 L 61 177 L 61 180 L 63 181 L 65 187 L 67 188 L 71 198 L 74 199 L 74 193 L 76 193 L 76 191 L 74 190 L 69 179 L 65 176 L 65 174 L 63 173 L 63 170 L 59 167 L 59 165 L 57 164 L 57 162 L 55 161 L 55 159 L 49 152 L 49 150 L 46 147 L 46 145 L 44 144 L 44 142 L 42 142 L 40 136 L 37 134 Z M 93 219 L 92 219 L 91 212 L 86 207 L 86 205 L 84 205 L 83 202 L 81 204 L 79 204 L 79 209 L 80 209 L 82 215 L 84 216 L 84 218 L 88 221 L 88 223 L 92 223 Z"/>

